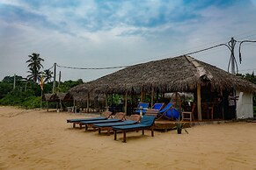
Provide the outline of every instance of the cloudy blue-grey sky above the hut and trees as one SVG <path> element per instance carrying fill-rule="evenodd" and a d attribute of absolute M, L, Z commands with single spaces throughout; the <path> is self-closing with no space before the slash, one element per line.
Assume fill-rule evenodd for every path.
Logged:
<path fill-rule="evenodd" d="M 28 55 L 62 81 L 95 80 L 121 68 L 228 43 L 256 40 L 256 0 L 0 0 L 0 80 L 28 75 Z M 256 43 L 241 46 L 238 73 L 256 70 Z M 230 50 L 191 55 L 228 70 Z"/>

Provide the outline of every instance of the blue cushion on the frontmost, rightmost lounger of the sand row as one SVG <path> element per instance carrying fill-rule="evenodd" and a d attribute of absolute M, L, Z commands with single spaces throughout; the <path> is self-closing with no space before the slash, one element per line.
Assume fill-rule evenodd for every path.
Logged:
<path fill-rule="evenodd" d="M 140 124 L 113 126 L 113 130 L 131 130 L 131 129 L 147 128 L 154 124 L 155 119 L 156 117 L 143 116 Z"/>

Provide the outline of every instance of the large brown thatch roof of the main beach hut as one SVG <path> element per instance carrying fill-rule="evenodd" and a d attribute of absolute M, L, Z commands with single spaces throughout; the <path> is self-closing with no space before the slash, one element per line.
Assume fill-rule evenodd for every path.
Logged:
<path fill-rule="evenodd" d="M 72 90 L 88 93 L 125 94 L 149 90 L 160 92 L 188 91 L 197 83 L 210 82 L 215 89 L 241 89 L 256 92 L 256 86 L 236 75 L 212 66 L 190 56 L 179 56 L 165 60 L 155 60 L 126 67 L 95 81 L 86 82 Z"/>

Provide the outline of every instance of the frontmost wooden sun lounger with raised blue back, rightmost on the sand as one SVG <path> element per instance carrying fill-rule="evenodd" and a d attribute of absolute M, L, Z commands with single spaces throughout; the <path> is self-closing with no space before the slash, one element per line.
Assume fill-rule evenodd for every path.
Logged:
<path fill-rule="evenodd" d="M 156 117 L 152 116 L 143 116 L 141 122 L 139 124 L 130 124 L 130 125 L 120 125 L 120 126 L 112 126 L 114 132 L 114 140 L 116 140 L 117 132 L 121 131 L 123 133 L 123 142 L 126 142 L 126 133 L 128 131 L 143 131 L 150 130 L 151 137 L 154 137 L 154 123 Z"/>

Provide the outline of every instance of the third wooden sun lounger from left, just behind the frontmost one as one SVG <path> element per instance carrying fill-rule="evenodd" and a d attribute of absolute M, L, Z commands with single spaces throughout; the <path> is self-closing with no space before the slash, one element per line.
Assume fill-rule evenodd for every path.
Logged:
<path fill-rule="evenodd" d="M 93 124 L 93 127 L 98 128 L 99 133 L 101 131 L 107 131 L 107 135 L 110 135 L 110 131 L 113 130 L 112 126 L 120 126 L 120 125 L 130 125 L 130 124 L 137 124 L 141 120 L 140 115 L 131 115 L 128 117 L 128 120 L 115 122 L 115 123 L 105 123 L 105 124 Z"/>

